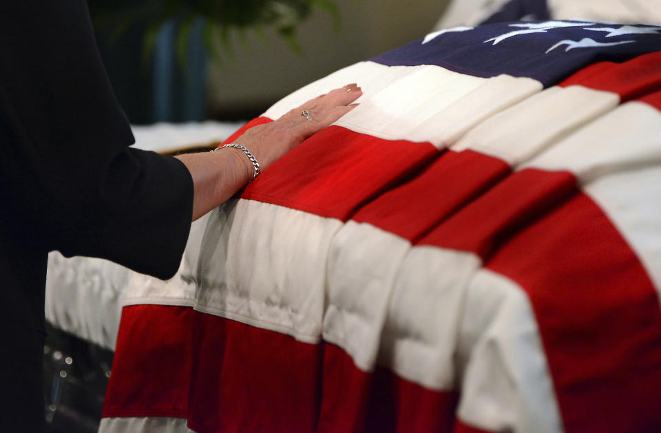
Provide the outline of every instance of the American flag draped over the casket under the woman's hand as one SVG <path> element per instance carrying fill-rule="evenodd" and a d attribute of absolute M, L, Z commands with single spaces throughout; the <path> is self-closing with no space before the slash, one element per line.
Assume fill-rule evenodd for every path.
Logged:
<path fill-rule="evenodd" d="M 101 431 L 661 430 L 660 50 L 452 28 L 286 96 L 244 129 L 364 90 L 133 279 Z"/>

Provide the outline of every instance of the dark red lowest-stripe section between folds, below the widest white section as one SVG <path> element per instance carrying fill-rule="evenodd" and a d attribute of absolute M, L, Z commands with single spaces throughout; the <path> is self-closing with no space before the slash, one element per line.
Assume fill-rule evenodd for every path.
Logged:
<path fill-rule="evenodd" d="M 322 346 L 196 313 L 189 427 L 207 432 L 314 432 Z"/>

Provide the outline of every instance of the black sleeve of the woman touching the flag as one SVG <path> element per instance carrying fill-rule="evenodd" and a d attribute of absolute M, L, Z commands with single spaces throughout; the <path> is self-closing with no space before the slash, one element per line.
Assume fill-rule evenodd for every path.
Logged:
<path fill-rule="evenodd" d="M 134 142 L 85 0 L 0 2 L 0 217 L 25 242 L 173 275 L 193 182 Z"/>

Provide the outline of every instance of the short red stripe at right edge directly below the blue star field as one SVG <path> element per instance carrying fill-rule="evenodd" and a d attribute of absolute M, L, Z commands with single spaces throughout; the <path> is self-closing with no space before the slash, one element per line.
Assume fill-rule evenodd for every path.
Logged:
<path fill-rule="evenodd" d="M 614 92 L 622 102 L 640 98 L 661 88 L 661 52 L 643 54 L 624 63 L 594 63 L 560 83 L 563 87 L 570 85 Z"/>

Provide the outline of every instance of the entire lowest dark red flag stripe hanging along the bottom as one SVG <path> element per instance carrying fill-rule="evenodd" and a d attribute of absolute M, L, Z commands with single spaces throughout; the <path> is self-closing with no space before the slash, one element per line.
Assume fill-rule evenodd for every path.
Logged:
<path fill-rule="evenodd" d="M 123 310 L 103 416 L 188 418 L 200 433 L 442 433 L 456 405 L 456 392 L 364 372 L 332 344 L 138 305 Z"/>

